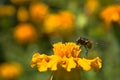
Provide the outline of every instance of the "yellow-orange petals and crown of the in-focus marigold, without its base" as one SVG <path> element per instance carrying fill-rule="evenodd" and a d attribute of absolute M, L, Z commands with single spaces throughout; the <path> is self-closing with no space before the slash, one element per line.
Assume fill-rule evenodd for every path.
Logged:
<path fill-rule="evenodd" d="M 31 66 L 37 65 L 39 71 L 47 71 L 47 69 L 56 71 L 62 67 L 68 72 L 76 68 L 88 71 L 91 69 L 98 70 L 102 67 L 99 57 L 93 59 L 80 58 L 80 52 L 80 46 L 73 42 L 65 44 L 59 42 L 53 45 L 54 55 L 34 54 Z"/>

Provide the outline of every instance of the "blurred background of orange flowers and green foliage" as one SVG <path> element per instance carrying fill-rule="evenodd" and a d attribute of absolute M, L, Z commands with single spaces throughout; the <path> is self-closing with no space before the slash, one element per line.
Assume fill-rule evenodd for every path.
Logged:
<path fill-rule="evenodd" d="M 78 37 L 103 62 L 98 72 L 81 71 L 82 80 L 120 80 L 120 0 L 0 0 L 0 80 L 49 80 L 51 71 L 30 67 L 32 55 Z"/>

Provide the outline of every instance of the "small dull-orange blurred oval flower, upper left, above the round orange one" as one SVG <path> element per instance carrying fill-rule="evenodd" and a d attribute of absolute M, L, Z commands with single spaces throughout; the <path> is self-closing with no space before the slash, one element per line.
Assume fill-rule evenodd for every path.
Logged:
<path fill-rule="evenodd" d="M 18 12 L 17 12 L 17 19 L 19 21 L 22 21 L 22 22 L 25 22 L 29 19 L 29 13 L 27 11 L 27 9 L 23 6 L 21 6 L 19 9 L 18 9 Z"/>

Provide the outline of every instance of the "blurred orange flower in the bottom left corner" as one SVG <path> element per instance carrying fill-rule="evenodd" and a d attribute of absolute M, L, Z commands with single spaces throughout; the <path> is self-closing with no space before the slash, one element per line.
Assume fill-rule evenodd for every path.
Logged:
<path fill-rule="evenodd" d="M 15 62 L 6 62 L 0 65 L 0 77 L 4 80 L 14 80 L 22 73 L 22 66 Z"/>

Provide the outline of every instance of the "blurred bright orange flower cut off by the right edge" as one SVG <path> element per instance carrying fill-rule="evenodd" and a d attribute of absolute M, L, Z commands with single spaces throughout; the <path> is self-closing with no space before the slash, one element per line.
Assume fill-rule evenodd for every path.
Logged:
<path fill-rule="evenodd" d="M 110 28 L 111 22 L 120 23 L 120 5 L 110 5 L 105 7 L 101 11 L 100 17 L 105 21 L 107 29 Z"/>

